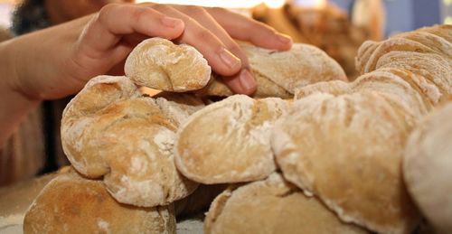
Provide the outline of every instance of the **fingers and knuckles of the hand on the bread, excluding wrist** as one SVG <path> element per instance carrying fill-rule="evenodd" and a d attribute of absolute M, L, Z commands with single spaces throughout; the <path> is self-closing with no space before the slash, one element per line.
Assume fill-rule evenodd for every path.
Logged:
<path fill-rule="evenodd" d="M 104 65 L 111 68 L 143 39 L 142 35 L 177 39 L 192 45 L 234 92 L 243 94 L 253 93 L 256 81 L 246 54 L 232 38 L 277 50 L 288 50 L 292 43 L 287 36 L 263 23 L 220 8 L 107 5 L 82 33 L 78 49 L 83 51 L 80 53 L 83 58 L 77 61 L 85 61 L 80 63 L 83 68 L 90 66 L 89 61 L 108 57 Z"/>

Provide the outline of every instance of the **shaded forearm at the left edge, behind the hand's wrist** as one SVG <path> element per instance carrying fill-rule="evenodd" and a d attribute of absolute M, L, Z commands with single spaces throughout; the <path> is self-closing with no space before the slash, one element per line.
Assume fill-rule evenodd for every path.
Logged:
<path fill-rule="evenodd" d="M 18 69 L 14 50 L 14 40 L 0 43 L 0 148 L 24 117 L 40 103 L 39 99 L 26 97 L 14 88 Z"/>

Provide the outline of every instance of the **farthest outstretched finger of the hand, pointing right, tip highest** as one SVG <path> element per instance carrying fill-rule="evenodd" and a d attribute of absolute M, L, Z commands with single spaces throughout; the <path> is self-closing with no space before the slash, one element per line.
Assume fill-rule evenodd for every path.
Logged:
<path fill-rule="evenodd" d="M 281 51 L 292 47 L 292 39 L 289 36 L 276 32 L 264 23 L 223 8 L 212 7 L 206 10 L 233 38 L 252 42 L 259 47 Z"/>

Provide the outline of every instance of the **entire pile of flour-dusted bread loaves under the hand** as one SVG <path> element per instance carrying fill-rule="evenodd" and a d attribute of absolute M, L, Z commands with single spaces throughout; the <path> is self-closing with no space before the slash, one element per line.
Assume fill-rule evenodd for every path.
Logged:
<path fill-rule="evenodd" d="M 252 98 L 159 38 L 125 77 L 90 80 L 63 113 L 72 168 L 25 232 L 174 233 L 205 205 L 206 233 L 410 233 L 422 217 L 452 231 L 452 26 L 363 43 L 353 82 L 309 45 L 242 48 Z"/>

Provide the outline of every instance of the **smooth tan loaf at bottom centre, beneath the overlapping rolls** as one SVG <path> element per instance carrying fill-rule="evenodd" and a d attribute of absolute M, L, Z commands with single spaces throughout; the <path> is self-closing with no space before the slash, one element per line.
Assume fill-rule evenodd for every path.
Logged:
<path fill-rule="evenodd" d="M 222 192 L 204 221 L 214 233 L 368 233 L 340 221 L 315 197 L 306 197 L 278 173 Z"/>

